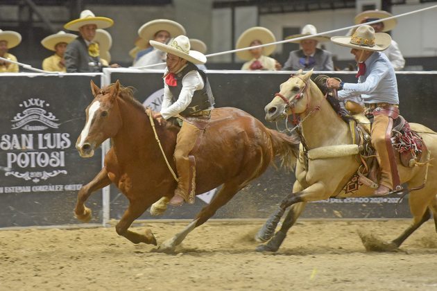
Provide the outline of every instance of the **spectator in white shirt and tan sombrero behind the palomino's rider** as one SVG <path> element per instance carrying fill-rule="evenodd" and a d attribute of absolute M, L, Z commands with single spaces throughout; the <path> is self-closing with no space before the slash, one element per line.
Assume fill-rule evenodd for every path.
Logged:
<path fill-rule="evenodd" d="M 394 18 L 384 20 L 384 18 L 392 16 L 393 15 L 384 10 L 367 10 L 357 15 L 354 21 L 355 24 L 366 24 L 367 22 L 381 19 L 381 22 L 378 22 L 376 24 L 370 24 L 370 26 L 375 29 L 376 33 L 385 33 L 392 30 L 397 25 L 397 20 Z M 395 71 L 400 71 L 404 69 L 405 59 L 402 56 L 397 42 L 391 39 L 391 46 L 388 46 L 388 48 L 383 51 L 383 53 L 387 56 L 388 60 L 390 60 L 391 64 L 393 64 L 393 68 L 395 69 Z"/>

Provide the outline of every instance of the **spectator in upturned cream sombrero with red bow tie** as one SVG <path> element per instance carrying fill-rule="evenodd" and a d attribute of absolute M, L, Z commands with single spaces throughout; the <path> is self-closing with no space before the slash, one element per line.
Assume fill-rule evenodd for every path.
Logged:
<path fill-rule="evenodd" d="M 237 48 L 247 48 L 249 46 L 258 46 L 260 44 L 269 44 L 276 42 L 275 35 L 267 28 L 255 26 L 244 31 L 237 40 Z M 277 71 L 280 70 L 280 63 L 273 58 L 269 58 L 275 51 L 276 44 L 271 46 L 263 46 L 261 48 L 252 48 L 246 51 L 238 51 L 237 57 L 241 60 L 246 60 L 241 67 L 241 70 L 265 70 Z"/>

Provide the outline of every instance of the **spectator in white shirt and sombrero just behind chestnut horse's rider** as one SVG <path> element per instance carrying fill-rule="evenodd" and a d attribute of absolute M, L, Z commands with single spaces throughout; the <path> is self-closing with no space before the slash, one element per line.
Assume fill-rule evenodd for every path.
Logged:
<path fill-rule="evenodd" d="M 138 35 L 142 39 L 149 42 L 154 40 L 166 44 L 171 37 L 178 35 L 186 35 L 185 28 L 178 24 L 178 22 L 169 19 L 155 19 L 148 21 L 138 30 Z M 166 61 L 166 54 L 164 51 L 157 50 L 153 47 L 146 48 L 137 53 L 137 59 L 134 61 L 134 67 L 142 67 L 148 64 L 157 64 Z M 151 69 L 164 69 L 166 65 L 151 67 Z"/>

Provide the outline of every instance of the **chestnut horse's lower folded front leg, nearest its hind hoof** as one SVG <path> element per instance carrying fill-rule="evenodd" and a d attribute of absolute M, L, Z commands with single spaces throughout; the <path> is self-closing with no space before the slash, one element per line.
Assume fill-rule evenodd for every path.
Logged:
<path fill-rule="evenodd" d="M 128 229 L 130 224 L 139 218 L 139 216 L 141 216 L 151 204 L 151 201 L 130 200 L 128 209 L 124 211 L 123 217 L 115 226 L 115 231 L 117 231 L 119 236 L 124 236 L 135 244 L 146 243 L 149 245 L 156 245 L 156 238 L 153 236 L 150 229 L 146 229 L 144 234 L 136 233 L 135 231 L 130 231 Z"/>

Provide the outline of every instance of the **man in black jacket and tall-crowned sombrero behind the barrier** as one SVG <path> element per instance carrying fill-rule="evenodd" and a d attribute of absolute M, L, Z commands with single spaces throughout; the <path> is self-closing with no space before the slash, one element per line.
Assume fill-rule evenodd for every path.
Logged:
<path fill-rule="evenodd" d="M 98 44 L 93 42 L 97 28 L 108 28 L 114 24 L 107 17 L 96 17 L 90 10 L 80 12 L 80 18 L 65 24 L 64 28 L 78 31 L 80 35 L 70 42 L 65 51 L 67 73 L 95 73 L 102 71 Z M 110 67 L 119 67 L 112 64 Z"/>

